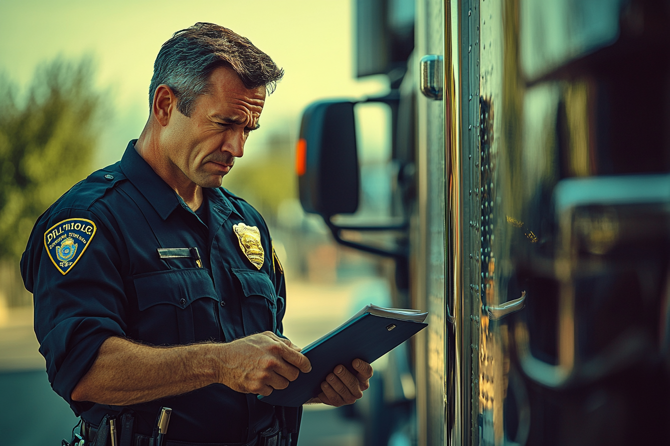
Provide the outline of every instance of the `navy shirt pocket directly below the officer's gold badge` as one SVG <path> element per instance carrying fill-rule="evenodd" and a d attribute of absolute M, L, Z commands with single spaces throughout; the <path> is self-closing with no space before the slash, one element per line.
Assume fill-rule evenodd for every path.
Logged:
<path fill-rule="evenodd" d="M 277 294 L 270 277 L 261 271 L 232 269 L 244 296 L 242 322 L 246 336 L 271 331 L 277 332 Z"/>

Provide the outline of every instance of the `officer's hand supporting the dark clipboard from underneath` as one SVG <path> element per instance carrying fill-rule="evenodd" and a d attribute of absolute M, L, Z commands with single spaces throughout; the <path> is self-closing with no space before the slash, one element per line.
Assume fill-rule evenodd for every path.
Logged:
<path fill-rule="evenodd" d="M 370 364 L 360 359 L 354 359 L 351 363 L 356 374 L 352 374 L 341 364 L 336 366 L 332 373 L 326 376 L 321 383 L 322 392 L 318 397 L 311 399 L 308 403 L 324 403 L 329 406 L 340 407 L 353 404 L 363 396 L 363 391 L 370 387 L 370 378 L 373 376 L 373 368 Z"/>

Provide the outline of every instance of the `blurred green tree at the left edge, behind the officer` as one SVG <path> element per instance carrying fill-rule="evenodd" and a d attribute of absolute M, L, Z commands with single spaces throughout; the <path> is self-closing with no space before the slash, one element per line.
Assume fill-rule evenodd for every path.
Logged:
<path fill-rule="evenodd" d="M 90 60 L 38 68 L 25 98 L 0 78 L 0 260 L 18 263 L 36 219 L 90 173 L 100 94 Z"/>

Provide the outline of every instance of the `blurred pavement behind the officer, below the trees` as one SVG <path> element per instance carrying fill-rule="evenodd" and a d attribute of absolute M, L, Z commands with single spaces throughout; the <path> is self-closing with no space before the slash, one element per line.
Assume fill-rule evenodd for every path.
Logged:
<path fill-rule="evenodd" d="M 284 334 L 296 345 L 310 344 L 352 316 L 354 296 L 370 285 L 371 280 L 346 284 L 289 281 Z M 78 420 L 52 391 L 39 347 L 32 308 L 0 305 L 2 446 L 60 445 L 61 439 L 71 438 Z M 345 417 L 342 409 L 309 405 L 298 446 L 362 446 L 362 433 L 362 423 Z"/>

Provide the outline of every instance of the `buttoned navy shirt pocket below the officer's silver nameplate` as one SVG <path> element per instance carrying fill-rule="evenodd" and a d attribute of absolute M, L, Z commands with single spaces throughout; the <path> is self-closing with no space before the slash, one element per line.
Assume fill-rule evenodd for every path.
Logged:
<path fill-rule="evenodd" d="M 139 340 L 153 345 L 196 342 L 196 318 L 212 327 L 218 336 L 218 322 L 211 300 L 218 300 L 212 279 L 204 268 L 172 269 L 133 277 L 137 292 Z"/>

